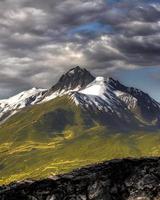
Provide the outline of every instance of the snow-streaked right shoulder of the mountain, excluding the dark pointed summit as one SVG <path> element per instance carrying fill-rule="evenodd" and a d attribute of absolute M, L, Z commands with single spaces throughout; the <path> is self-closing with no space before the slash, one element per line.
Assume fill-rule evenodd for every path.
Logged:
<path fill-rule="evenodd" d="M 143 91 L 113 78 L 97 77 L 85 89 L 72 92 L 72 99 L 88 111 L 103 113 L 104 123 L 118 129 L 124 124 L 132 128 L 160 125 L 160 104 Z"/>

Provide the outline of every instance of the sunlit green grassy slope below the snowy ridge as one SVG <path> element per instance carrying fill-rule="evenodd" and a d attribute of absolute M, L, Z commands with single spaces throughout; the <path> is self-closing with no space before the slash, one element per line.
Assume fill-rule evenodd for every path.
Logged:
<path fill-rule="evenodd" d="M 112 158 L 158 156 L 159 143 L 158 132 L 110 132 L 68 98 L 57 98 L 26 108 L 0 126 L 0 184 Z"/>

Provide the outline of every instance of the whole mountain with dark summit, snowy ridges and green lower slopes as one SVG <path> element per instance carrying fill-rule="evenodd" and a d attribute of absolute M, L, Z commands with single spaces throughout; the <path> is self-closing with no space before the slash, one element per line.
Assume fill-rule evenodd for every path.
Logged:
<path fill-rule="evenodd" d="M 160 155 L 159 103 L 136 88 L 76 67 L 22 94 L 5 100 L 16 113 L 0 124 L 0 184 Z"/>

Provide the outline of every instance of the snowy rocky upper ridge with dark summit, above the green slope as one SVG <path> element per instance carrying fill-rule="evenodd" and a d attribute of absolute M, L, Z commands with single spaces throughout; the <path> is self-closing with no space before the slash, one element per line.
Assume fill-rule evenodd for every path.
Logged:
<path fill-rule="evenodd" d="M 103 124 L 130 128 L 160 126 L 160 104 L 143 91 L 126 87 L 111 77 L 94 77 L 75 67 L 63 74 L 49 90 L 33 88 L 0 101 L 0 120 L 19 110 L 67 95 L 77 106 Z"/>

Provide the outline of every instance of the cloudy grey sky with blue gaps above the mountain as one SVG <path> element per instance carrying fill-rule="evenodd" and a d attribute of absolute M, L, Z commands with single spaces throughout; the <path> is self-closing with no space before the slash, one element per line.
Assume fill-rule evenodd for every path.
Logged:
<path fill-rule="evenodd" d="M 74 66 L 160 101 L 159 0 L 0 0 L 0 98 Z"/>

